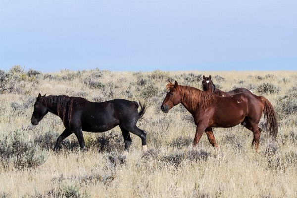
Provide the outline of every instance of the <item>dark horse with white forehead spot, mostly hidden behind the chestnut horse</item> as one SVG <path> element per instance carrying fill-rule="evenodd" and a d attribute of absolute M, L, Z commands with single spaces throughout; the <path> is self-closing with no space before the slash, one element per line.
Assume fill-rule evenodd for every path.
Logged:
<path fill-rule="evenodd" d="M 205 75 L 203 75 L 202 86 L 203 86 L 203 91 L 208 91 L 218 96 L 232 96 L 234 94 L 241 93 L 241 92 L 252 93 L 252 91 L 246 88 L 237 88 L 237 89 L 234 89 L 233 91 L 228 91 L 228 92 L 221 91 L 220 89 L 216 88 L 216 86 L 211 81 L 211 75 L 209 77 L 205 77 Z"/>

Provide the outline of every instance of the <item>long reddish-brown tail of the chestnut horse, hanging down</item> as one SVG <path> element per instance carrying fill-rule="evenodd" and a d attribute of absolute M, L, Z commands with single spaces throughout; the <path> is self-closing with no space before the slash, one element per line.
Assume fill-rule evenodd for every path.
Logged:
<path fill-rule="evenodd" d="M 278 125 L 277 125 L 277 117 L 276 113 L 269 102 L 266 98 L 263 96 L 259 96 L 260 99 L 262 100 L 264 104 L 264 118 L 265 118 L 265 123 L 266 123 L 266 131 L 269 132 L 272 140 L 275 140 L 277 131 L 278 131 Z"/>

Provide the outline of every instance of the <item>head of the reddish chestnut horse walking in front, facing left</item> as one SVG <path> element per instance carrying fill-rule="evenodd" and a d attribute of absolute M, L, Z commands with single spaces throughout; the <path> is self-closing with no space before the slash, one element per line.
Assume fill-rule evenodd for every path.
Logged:
<path fill-rule="evenodd" d="M 161 105 L 161 110 L 164 113 L 168 113 L 168 111 L 174 107 L 175 105 L 178 105 L 181 101 L 181 95 L 180 92 L 178 90 L 178 83 L 177 81 L 175 81 L 174 84 L 172 84 L 171 82 L 169 84 L 166 85 L 167 88 L 167 95 Z"/>

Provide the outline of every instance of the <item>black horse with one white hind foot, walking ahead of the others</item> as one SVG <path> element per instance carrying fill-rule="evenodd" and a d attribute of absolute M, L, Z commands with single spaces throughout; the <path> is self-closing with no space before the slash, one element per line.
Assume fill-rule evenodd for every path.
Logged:
<path fill-rule="evenodd" d="M 90 102 L 81 97 L 41 96 L 38 95 L 34 104 L 31 118 L 32 125 L 38 125 L 43 117 L 51 112 L 62 119 L 64 132 L 58 137 L 54 150 L 59 148 L 63 139 L 74 133 L 82 148 L 85 148 L 83 131 L 106 132 L 119 126 L 125 142 L 125 150 L 131 145 L 130 133 L 138 135 L 142 140 L 143 150 L 147 150 L 147 132 L 136 127 L 147 109 L 140 103 L 141 110 L 138 112 L 138 103 L 124 99 L 115 99 L 105 102 Z"/>

